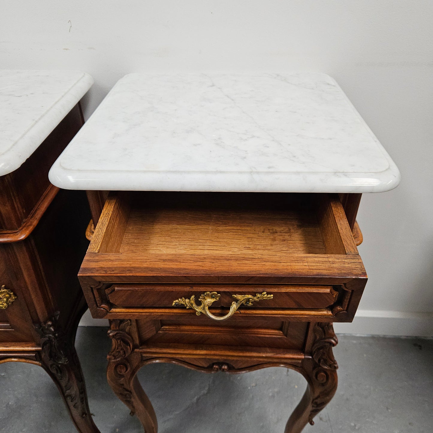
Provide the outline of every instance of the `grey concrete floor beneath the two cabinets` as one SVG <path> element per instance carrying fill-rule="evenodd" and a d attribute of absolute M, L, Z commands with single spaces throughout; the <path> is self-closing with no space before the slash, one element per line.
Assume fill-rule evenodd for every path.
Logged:
<path fill-rule="evenodd" d="M 105 380 L 110 342 L 103 328 L 78 330 L 90 410 L 101 433 L 142 433 Z M 433 340 L 339 336 L 339 388 L 305 433 L 432 433 Z M 301 375 L 268 368 L 242 375 L 148 365 L 139 379 L 159 433 L 282 433 L 304 393 Z M 0 365 L 1 433 L 76 433 L 42 368 Z"/>

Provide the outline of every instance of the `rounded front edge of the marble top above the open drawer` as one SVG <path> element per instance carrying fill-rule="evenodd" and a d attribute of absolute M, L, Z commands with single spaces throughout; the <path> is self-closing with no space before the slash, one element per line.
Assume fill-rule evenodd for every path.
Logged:
<path fill-rule="evenodd" d="M 374 174 L 73 172 L 63 169 L 58 160 L 48 177 L 59 188 L 89 191 L 373 193 L 390 191 L 400 182 L 396 167 Z"/>

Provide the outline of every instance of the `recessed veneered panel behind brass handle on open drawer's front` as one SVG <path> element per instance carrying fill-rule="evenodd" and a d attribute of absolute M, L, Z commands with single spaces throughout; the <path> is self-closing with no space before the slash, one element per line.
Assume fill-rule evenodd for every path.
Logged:
<path fill-rule="evenodd" d="M 113 284 L 106 289 L 108 301 L 118 307 L 172 307 L 179 298 L 200 304 L 201 294 L 216 291 L 220 298 L 212 307 L 229 308 L 236 299 L 233 295 L 252 295 L 266 292 L 272 299 L 261 299 L 251 307 L 240 308 L 326 308 L 336 301 L 337 292 L 332 286 L 320 285 L 236 285 L 236 284 Z M 210 308 L 212 308 L 210 307 Z"/>

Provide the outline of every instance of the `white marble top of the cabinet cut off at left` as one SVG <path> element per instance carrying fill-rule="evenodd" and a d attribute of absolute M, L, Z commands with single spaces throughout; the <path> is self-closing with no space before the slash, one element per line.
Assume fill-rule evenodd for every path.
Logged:
<path fill-rule="evenodd" d="M 23 164 L 92 84 L 78 71 L 0 70 L 0 176 Z"/>

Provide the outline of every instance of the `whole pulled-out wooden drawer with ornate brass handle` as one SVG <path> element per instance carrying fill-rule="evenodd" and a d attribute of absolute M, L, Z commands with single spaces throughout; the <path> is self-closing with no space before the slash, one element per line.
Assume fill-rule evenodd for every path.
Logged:
<path fill-rule="evenodd" d="M 79 278 L 94 317 L 197 320 L 350 321 L 367 281 L 337 194 L 197 192 L 111 193 Z"/>

